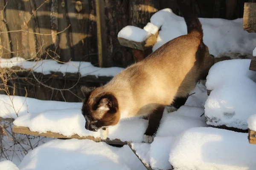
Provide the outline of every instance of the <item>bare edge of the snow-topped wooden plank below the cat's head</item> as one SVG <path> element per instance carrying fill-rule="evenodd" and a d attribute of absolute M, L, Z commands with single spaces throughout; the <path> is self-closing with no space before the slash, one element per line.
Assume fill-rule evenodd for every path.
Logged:
<path fill-rule="evenodd" d="M 64 136 L 59 133 L 54 133 L 47 131 L 47 133 L 38 133 L 29 130 L 28 127 L 22 127 L 22 126 L 13 126 L 12 132 L 14 133 L 20 133 L 20 134 L 25 134 L 25 135 L 36 135 L 36 136 L 45 136 L 45 137 L 50 137 L 50 138 L 58 138 L 58 139 L 90 139 L 95 142 L 106 142 L 108 144 L 118 144 L 118 145 L 124 145 L 127 144 L 126 142 L 122 142 L 119 139 L 114 139 L 114 140 L 102 140 L 100 138 L 95 138 L 93 136 L 78 136 L 77 134 L 72 135 L 72 136 Z"/>

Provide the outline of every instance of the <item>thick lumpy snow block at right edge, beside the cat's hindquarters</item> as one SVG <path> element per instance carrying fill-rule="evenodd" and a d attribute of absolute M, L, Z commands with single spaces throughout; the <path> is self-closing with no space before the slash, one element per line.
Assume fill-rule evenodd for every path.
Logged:
<path fill-rule="evenodd" d="M 210 68 L 206 86 L 212 91 L 205 103 L 208 125 L 248 128 L 247 119 L 256 110 L 256 72 L 249 65 L 250 59 L 232 59 Z"/>

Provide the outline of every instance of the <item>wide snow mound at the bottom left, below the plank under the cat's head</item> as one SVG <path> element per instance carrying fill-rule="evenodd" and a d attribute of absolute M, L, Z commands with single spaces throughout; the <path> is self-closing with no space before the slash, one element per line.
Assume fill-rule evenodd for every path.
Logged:
<path fill-rule="evenodd" d="M 132 150 L 88 139 L 56 139 L 29 152 L 20 170 L 145 170 Z"/>

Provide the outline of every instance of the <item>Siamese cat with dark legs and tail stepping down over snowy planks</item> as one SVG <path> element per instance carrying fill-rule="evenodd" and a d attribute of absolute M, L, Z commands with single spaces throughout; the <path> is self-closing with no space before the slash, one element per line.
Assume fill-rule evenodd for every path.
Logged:
<path fill-rule="evenodd" d="M 151 143 L 166 106 L 179 108 L 200 79 L 206 79 L 214 57 L 203 42 L 192 0 L 177 0 L 187 34 L 166 42 L 144 60 L 98 88 L 81 87 L 85 128 L 97 131 L 120 119 L 148 115 L 144 142 Z M 104 135 L 106 138 L 106 134 Z"/>

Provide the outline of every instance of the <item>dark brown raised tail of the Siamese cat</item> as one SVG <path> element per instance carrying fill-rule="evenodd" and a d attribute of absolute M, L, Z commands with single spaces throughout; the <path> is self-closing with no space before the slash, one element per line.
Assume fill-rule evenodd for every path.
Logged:
<path fill-rule="evenodd" d="M 198 17 L 193 12 L 194 0 L 177 0 L 177 6 L 186 22 L 188 34 L 196 31 L 203 38 L 203 29 Z"/>

